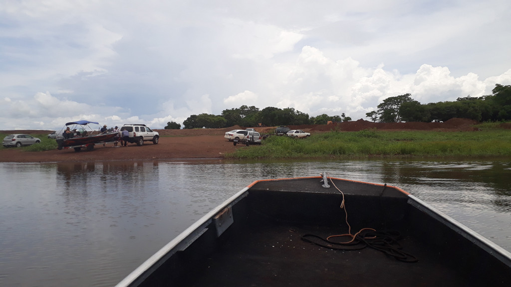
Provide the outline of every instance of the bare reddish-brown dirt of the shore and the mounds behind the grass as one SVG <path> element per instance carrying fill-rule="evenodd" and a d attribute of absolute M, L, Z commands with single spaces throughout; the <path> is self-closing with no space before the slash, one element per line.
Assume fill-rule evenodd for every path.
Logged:
<path fill-rule="evenodd" d="M 470 119 L 452 118 L 445 123 L 373 123 L 359 119 L 355 122 L 344 122 L 331 125 L 288 126 L 305 132 L 320 133 L 331 130 L 359 131 L 364 129 L 378 130 L 438 130 L 438 131 L 473 131 L 475 121 Z M 160 134 L 157 145 L 146 142 L 142 147 L 128 143 L 128 147 L 113 148 L 112 143 L 105 147 L 97 145 L 93 151 L 75 152 L 73 149 L 52 150 L 44 152 L 28 152 L 21 149 L 0 149 L 0 162 L 61 162 L 61 161 L 108 161 L 108 160 L 172 160 L 172 159 L 221 159 L 225 153 L 243 148 L 234 146 L 223 137 L 226 131 L 241 129 L 234 126 L 225 129 L 183 129 L 156 130 Z M 506 127 L 511 128 L 511 127 Z M 275 127 L 256 127 L 261 134 L 271 134 Z M 15 130 L 1 131 L 5 134 L 27 133 L 48 134 L 51 131 Z"/>

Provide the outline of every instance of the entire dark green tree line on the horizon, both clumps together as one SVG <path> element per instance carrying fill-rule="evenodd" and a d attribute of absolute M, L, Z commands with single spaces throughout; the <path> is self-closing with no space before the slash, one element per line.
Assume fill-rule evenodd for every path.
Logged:
<path fill-rule="evenodd" d="M 445 122 L 453 117 L 475 119 L 478 122 L 497 122 L 511 120 L 511 86 L 496 84 L 491 95 L 474 98 L 467 96 L 454 102 L 421 104 L 406 93 L 390 97 L 377 106 L 376 111 L 366 113 L 373 122 Z M 185 129 L 226 128 L 235 125 L 242 127 L 287 126 L 287 125 L 324 125 L 328 122 L 340 123 L 352 121 L 341 115 L 320 114 L 309 116 L 294 108 L 266 107 L 262 110 L 255 106 L 243 105 L 239 108 L 225 109 L 220 115 L 201 113 L 191 115 L 183 122 Z M 180 129 L 175 122 L 167 123 L 165 129 Z"/>

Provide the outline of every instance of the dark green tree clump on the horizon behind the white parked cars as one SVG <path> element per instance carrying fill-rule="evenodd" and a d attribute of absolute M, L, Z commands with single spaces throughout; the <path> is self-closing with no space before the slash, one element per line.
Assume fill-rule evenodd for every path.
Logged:
<path fill-rule="evenodd" d="M 310 117 L 307 113 L 300 112 L 294 108 L 275 108 L 266 107 L 262 110 L 255 106 L 242 105 L 239 108 L 225 109 L 220 115 L 214 114 L 193 114 L 184 120 L 185 129 L 196 128 L 227 128 L 235 125 L 242 127 L 257 126 L 288 126 L 288 125 L 310 125 L 327 124 L 329 121 L 340 123 L 351 121 L 351 117 L 344 113 L 334 116 L 321 114 L 316 117 Z M 165 129 L 180 129 L 181 125 L 175 122 L 168 122 Z"/>

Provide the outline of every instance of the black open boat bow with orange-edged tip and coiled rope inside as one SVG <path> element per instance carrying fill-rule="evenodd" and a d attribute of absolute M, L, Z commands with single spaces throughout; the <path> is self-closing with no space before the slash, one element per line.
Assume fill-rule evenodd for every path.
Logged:
<path fill-rule="evenodd" d="M 511 254 L 399 187 L 255 181 L 117 286 L 511 286 Z"/>

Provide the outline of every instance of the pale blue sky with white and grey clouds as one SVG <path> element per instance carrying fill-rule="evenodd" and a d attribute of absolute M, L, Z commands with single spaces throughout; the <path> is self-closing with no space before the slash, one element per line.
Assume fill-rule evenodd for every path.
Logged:
<path fill-rule="evenodd" d="M 508 0 L 2 0 L 0 130 L 242 105 L 354 121 L 511 85 Z"/>

